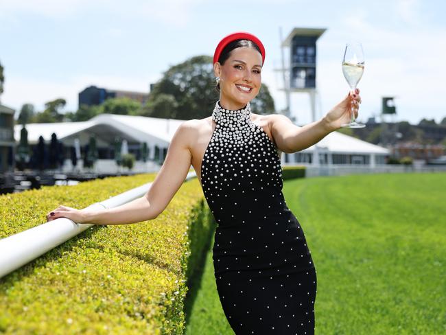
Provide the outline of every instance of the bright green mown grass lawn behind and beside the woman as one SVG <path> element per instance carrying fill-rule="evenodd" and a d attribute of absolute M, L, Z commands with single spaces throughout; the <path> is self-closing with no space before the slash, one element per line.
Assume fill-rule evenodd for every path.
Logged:
<path fill-rule="evenodd" d="M 316 334 L 446 332 L 445 173 L 296 179 L 283 194 L 317 270 Z M 186 334 L 233 334 L 214 280 L 209 250 Z"/>

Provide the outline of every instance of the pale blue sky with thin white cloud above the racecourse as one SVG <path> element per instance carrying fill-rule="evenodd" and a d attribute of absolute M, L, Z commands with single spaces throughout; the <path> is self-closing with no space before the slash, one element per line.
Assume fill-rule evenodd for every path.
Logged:
<path fill-rule="evenodd" d="M 318 117 L 347 94 L 342 51 L 346 41 L 359 40 L 366 56 L 359 119 L 379 115 L 381 97 L 395 95 L 396 120 L 440 122 L 446 117 L 445 12 L 442 0 L 0 0 L 1 102 L 42 110 L 63 97 L 64 111 L 75 111 L 78 93 L 92 84 L 148 91 L 169 66 L 211 56 L 223 36 L 242 30 L 266 47 L 262 80 L 281 110 L 283 83 L 274 71 L 281 65 L 279 27 L 283 38 L 294 27 L 322 27 Z M 307 95 L 294 93 L 291 109 L 298 124 L 311 122 Z"/>

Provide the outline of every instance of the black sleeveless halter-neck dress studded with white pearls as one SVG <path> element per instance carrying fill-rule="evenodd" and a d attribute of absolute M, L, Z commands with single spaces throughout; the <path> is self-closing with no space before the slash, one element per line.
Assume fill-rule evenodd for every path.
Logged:
<path fill-rule="evenodd" d="M 235 334 L 314 334 L 316 269 L 282 194 L 277 148 L 238 111 L 215 104 L 202 160 L 204 196 L 218 224 L 215 280 Z"/>

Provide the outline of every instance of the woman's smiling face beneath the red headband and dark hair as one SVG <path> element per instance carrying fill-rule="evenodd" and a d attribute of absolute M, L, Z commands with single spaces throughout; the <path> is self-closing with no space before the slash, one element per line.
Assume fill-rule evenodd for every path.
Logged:
<path fill-rule="evenodd" d="M 231 51 L 224 65 L 216 62 L 215 76 L 220 77 L 220 104 L 227 109 L 243 108 L 259 93 L 262 58 L 259 51 L 238 47 Z"/>

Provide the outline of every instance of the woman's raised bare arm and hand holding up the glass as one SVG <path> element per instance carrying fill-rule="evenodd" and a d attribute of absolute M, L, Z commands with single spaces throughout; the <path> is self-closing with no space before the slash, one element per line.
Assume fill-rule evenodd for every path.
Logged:
<path fill-rule="evenodd" d="M 303 127 L 296 126 L 285 115 L 272 115 L 270 127 L 277 148 L 288 154 L 304 150 L 318 143 L 330 132 L 339 129 L 341 124 L 349 123 L 351 111 L 357 117 L 361 103 L 359 92 L 359 89 L 356 89 L 355 94 L 349 93 L 322 119 Z"/>

